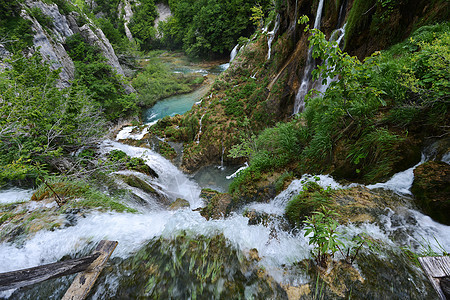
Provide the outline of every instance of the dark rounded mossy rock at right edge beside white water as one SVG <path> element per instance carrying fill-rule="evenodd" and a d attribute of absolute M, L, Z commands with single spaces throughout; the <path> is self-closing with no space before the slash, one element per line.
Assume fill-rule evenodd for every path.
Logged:
<path fill-rule="evenodd" d="M 450 165 L 429 161 L 418 166 L 411 191 L 426 214 L 450 225 Z"/>

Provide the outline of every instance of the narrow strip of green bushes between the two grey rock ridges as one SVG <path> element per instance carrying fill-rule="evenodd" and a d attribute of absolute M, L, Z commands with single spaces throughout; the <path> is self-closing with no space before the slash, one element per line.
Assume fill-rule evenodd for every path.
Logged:
<path fill-rule="evenodd" d="M 66 39 L 66 49 L 75 64 L 76 85 L 87 90 L 109 120 L 137 113 L 136 95 L 126 93 L 125 79 L 106 64 L 97 47 L 74 34 Z"/>

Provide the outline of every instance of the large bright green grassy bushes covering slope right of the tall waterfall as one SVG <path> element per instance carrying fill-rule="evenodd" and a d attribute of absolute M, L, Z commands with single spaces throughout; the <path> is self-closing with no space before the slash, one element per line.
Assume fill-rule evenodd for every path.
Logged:
<path fill-rule="evenodd" d="M 320 31 L 308 26 L 306 31 L 312 33 L 313 57 L 327 60 L 314 78 L 339 81 L 318 97 L 311 92 L 298 119 L 233 147 L 233 157 L 248 157 L 250 167 L 235 179 L 231 192 L 252 189 L 251 180 L 281 168 L 318 173 L 337 166 L 340 176 L 375 182 L 399 171 L 408 159 L 403 151 L 411 141 L 409 132 L 425 126 L 427 134 L 447 134 L 449 23 L 421 28 L 364 61 L 327 42 Z M 235 90 L 229 96 L 240 92 Z"/>

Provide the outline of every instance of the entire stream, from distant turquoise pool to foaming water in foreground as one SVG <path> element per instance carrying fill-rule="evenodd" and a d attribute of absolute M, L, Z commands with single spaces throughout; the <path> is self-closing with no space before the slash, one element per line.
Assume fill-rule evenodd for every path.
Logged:
<path fill-rule="evenodd" d="M 182 114 L 203 97 L 209 87 L 159 102 L 145 114 L 145 122 Z M 131 130 L 119 133 L 131 134 Z M 127 131 L 129 130 L 129 131 Z M 128 133 L 127 133 L 128 132 Z M 137 136 L 136 138 L 139 138 Z M 173 202 L 178 198 L 190 207 L 170 211 L 155 202 L 140 213 L 90 212 L 77 216 L 71 226 L 53 231 L 41 230 L 17 243 L 0 244 L 0 272 L 8 272 L 61 259 L 89 254 L 102 239 L 119 244 L 100 275 L 89 299 L 287 299 L 286 291 L 308 284 L 314 294 L 315 278 L 301 261 L 311 258 L 312 246 L 303 230 L 287 230 L 283 218 L 293 195 L 307 181 L 324 188 L 349 188 L 326 175 L 304 175 L 268 203 L 250 203 L 225 219 L 206 220 L 194 209 L 205 205 L 202 187 L 226 191 L 226 176 L 239 167 L 212 166 L 188 176 L 160 154 L 146 148 L 105 140 L 103 154 L 113 149 L 141 157 L 159 177 L 146 180 L 163 191 Z M 413 168 L 394 175 L 389 181 L 368 186 L 396 193 L 411 202 L 409 189 Z M 355 186 L 352 184 L 351 186 Z M 29 201 L 32 191 L 9 188 L 0 191 L 0 203 Z M 251 223 L 246 211 L 269 216 L 267 222 Z M 252 225 L 250 225 L 252 224 Z M 354 290 L 356 299 L 433 299 L 430 284 L 418 266 L 400 251 L 410 246 L 419 252 L 425 241 L 435 251 L 450 251 L 450 227 L 434 222 L 411 205 L 382 211 L 374 222 L 341 225 L 346 236 L 368 234 L 379 241 L 373 251 L 363 249 L 355 268 L 367 290 Z M 256 253 L 256 255 L 255 255 Z M 74 275 L 0 293 L 0 298 L 59 299 Z M 353 296 L 352 295 L 352 296 Z"/>

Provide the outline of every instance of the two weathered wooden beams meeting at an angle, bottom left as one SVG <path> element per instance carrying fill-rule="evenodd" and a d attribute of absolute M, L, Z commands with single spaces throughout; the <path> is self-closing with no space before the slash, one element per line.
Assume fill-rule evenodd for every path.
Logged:
<path fill-rule="evenodd" d="M 0 273 L 0 291 L 21 288 L 70 274 L 78 274 L 62 299 L 82 300 L 87 297 L 118 242 L 102 240 L 86 257 L 70 259 L 34 268 Z"/>

